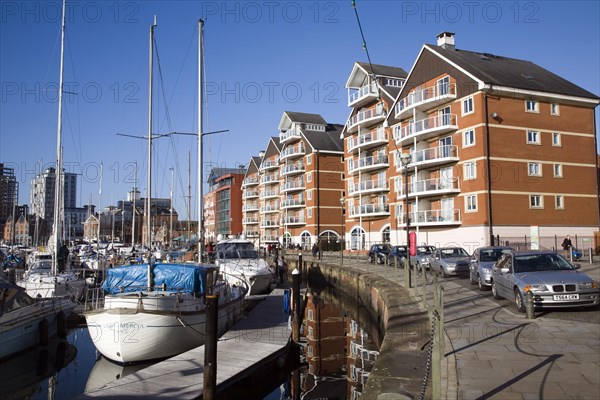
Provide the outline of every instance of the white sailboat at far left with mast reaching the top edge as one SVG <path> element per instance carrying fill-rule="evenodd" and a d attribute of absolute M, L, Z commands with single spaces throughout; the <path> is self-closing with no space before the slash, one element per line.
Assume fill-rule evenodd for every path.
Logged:
<path fill-rule="evenodd" d="M 54 181 L 54 221 L 49 248 L 52 257 L 34 262 L 17 284 L 35 298 L 68 296 L 80 299 L 86 290 L 85 277 L 71 270 L 67 262 L 66 246 L 61 243 L 63 207 L 63 158 L 62 158 L 62 103 L 63 103 L 63 70 L 65 48 L 65 13 L 66 0 L 63 1 L 61 47 L 60 47 L 60 81 L 58 87 L 58 129 L 56 134 L 56 169 Z M 59 263 L 61 265 L 59 265 Z M 59 268 L 60 267 L 60 268 Z M 60 269 L 60 270 L 59 270 Z"/>

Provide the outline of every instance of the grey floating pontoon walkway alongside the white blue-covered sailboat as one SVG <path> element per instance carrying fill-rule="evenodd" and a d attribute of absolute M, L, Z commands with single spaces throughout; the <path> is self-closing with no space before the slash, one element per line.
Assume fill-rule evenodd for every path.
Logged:
<path fill-rule="evenodd" d="M 290 335 L 283 313 L 283 289 L 275 289 L 219 339 L 217 385 L 283 351 Z M 200 346 L 79 398 L 198 398 L 204 382 L 203 365 L 204 346 Z"/>

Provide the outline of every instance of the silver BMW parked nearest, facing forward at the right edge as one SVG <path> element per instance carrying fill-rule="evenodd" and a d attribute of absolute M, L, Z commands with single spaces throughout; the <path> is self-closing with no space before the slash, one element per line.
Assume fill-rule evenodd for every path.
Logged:
<path fill-rule="evenodd" d="M 556 252 L 507 253 L 492 269 L 492 295 L 514 300 L 519 312 L 525 312 L 527 292 L 536 308 L 597 306 L 598 282 L 579 268 Z"/>

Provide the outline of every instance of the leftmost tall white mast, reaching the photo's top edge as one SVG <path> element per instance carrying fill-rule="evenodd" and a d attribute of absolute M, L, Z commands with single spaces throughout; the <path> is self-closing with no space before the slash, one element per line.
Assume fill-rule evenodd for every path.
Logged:
<path fill-rule="evenodd" d="M 64 61 L 65 61 L 65 14 L 66 14 L 66 5 L 67 1 L 63 0 L 62 7 L 62 24 L 61 24 L 61 34 L 60 34 L 60 76 L 58 83 L 58 128 L 56 133 L 56 172 L 54 176 L 54 226 L 52 227 L 52 234 L 54 235 L 54 257 L 52 257 L 52 271 L 56 274 L 58 270 L 57 260 L 58 260 L 58 248 L 59 248 L 59 239 L 58 235 L 60 233 L 60 200 L 62 196 L 60 195 L 60 191 L 64 190 L 62 187 L 62 101 L 63 101 L 63 71 L 64 71 Z M 14 217 L 13 217 L 14 218 Z"/>

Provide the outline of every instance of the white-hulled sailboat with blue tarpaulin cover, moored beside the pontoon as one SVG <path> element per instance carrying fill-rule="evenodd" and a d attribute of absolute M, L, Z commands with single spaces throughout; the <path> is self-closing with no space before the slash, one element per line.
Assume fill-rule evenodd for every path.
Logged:
<path fill-rule="evenodd" d="M 203 48 L 203 26 L 204 21 L 199 20 L 199 55 Z M 152 64 L 155 27 L 156 20 L 150 27 L 149 57 L 146 207 L 149 248 L 152 243 L 149 203 L 152 198 Z M 201 63 L 199 70 L 202 70 Z M 199 105 L 202 106 L 202 101 Z M 202 124 L 199 125 L 201 132 Z M 198 136 L 201 141 L 201 133 Z M 218 295 L 219 299 L 219 334 L 241 318 L 242 301 L 248 291 L 242 281 L 236 285 L 219 280 L 218 268 L 214 265 L 153 264 L 152 257 L 148 258 L 147 264 L 109 269 L 102 287 L 91 291 L 92 296 L 88 297 L 84 316 L 94 345 L 104 357 L 121 364 L 137 363 L 171 357 L 203 345 L 205 295 L 209 293 Z"/>

